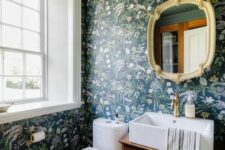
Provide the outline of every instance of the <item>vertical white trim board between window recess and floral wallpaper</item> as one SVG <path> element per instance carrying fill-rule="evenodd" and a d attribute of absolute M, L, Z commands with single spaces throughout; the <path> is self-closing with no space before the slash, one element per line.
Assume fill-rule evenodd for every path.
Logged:
<path fill-rule="evenodd" d="M 68 37 L 68 99 L 81 102 L 81 0 L 68 0 L 68 28 L 73 29 Z"/>

